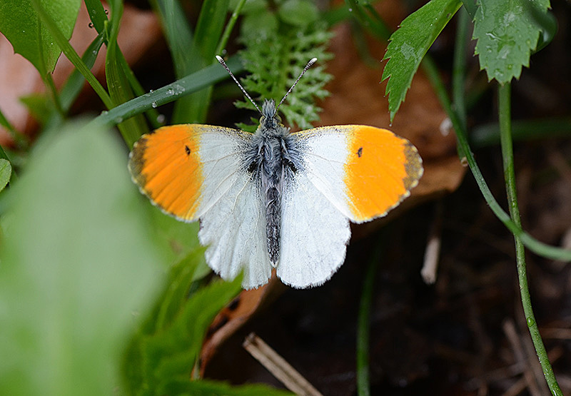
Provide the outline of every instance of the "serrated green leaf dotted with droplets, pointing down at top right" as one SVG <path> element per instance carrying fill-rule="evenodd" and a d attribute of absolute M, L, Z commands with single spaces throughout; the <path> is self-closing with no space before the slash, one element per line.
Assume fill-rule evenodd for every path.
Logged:
<path fill-rule="evenodd" d="M 478 0 L 474 17 L 475 54 L 488 80 L 507 83 L 529 66 L 544 30 L 549 0 Z"/>

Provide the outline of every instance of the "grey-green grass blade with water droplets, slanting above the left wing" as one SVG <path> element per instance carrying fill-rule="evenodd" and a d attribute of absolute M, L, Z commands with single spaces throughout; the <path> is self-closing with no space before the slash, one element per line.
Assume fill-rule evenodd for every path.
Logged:
<path fill-rule="evenodd" d="M 244 70 L 240 59 L 234 56 L 226 62 L 229 68 L 236 73 L 241 73 Z M 156 91 L 145 93 L 143 96 L 131 99 L 116 108 L 109 111 L 103 111 L 100 116 L 94 119 L 94 123 L 113 124 L 119 123 L 128 117 L 132 117 L 138 113 L 148 110 L 149 108 L 161 106 L 165 103 L 170 103 L 181 98 L 181 96 L 188 95 L 196 92 L 213 83 L 222 81 L 225 78 L 230 78 L 228 73 L 218 64 L 213 64 L 203 68 L 190 76 L 181 78 L 173 83 L 170 83 Z"/>

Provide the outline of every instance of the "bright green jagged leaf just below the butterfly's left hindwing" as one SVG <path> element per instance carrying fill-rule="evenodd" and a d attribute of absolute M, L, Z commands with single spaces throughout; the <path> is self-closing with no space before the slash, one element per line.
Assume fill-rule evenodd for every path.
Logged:
<path fill-rule="evenodd" d="M 188 295 L 201 256 L 183 260 L 171 270 L 157 308 L 128 347 L 124 372 L 128 393 L 173 395 L 167 390 L 190 381 L 208 325 L 214 315 L 241 290 L 241 276 L 218 281 Z"/>

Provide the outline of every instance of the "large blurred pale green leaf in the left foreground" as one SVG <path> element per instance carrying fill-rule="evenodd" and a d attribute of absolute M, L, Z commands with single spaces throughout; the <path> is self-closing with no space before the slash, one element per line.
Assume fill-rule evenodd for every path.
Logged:
<path fill-rule="evenodd" d="M 0 394 L 112 395 L 121 351 L 163 277 L 116 138 L 77 123 L 9 191 Z"/>

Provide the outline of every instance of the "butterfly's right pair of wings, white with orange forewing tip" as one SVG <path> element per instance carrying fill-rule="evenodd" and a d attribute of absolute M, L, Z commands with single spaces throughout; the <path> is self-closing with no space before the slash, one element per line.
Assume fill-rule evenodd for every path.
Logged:
<path fill-rule="evenodd" d="M 293 133 L 300 169 L 285 188 L 277 274 L 307 288 L 328 280 L 345 260 L 349 220 L 388 213 L 422 175 L 407 140 L 369 126 L 327 126 Z"/>

